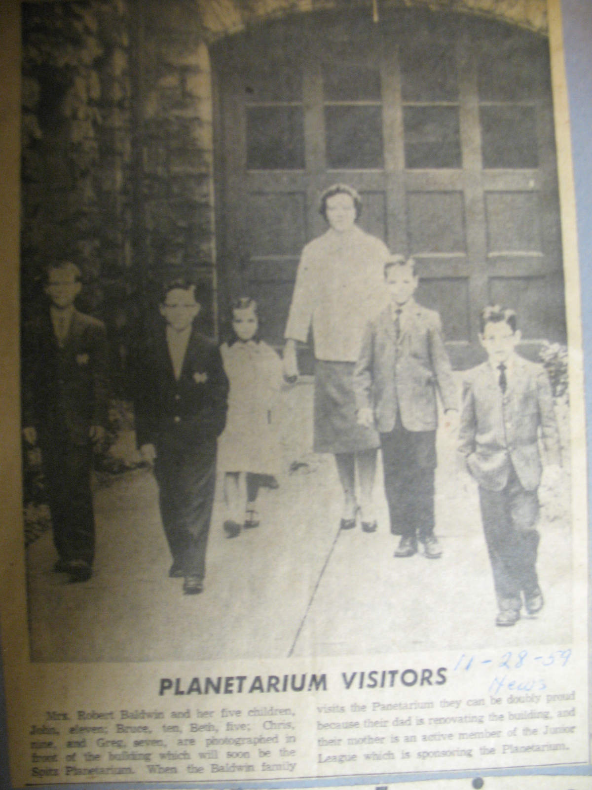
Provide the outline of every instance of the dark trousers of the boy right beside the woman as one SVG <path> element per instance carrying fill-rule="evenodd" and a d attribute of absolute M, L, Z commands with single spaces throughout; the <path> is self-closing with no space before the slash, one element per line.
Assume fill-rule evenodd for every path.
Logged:
<path fill-rule="evenodd" d="M 380 434 L 380 448 L 391 532 L 425 540 L 434 528 L 436 431 L 407 431 L 397 412 L 394 429 Z"/>

